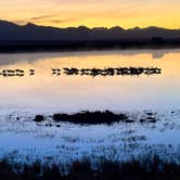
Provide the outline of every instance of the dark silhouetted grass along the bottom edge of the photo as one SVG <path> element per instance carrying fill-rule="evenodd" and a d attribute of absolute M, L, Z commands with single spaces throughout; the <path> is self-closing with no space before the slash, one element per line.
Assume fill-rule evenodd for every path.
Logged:
<path fill-rule="evenodd" d="M 21 164 L 0 160 L 0 179 L 5 180 L 179 180 L 180 165 L 160 159 L 157 155 L 147 155 L 129 162 L 95 158 L 95 166 L 90 159 L 74 160 L 69 165 Z M 68 166 L 68 170 L 67 170 Z"/>

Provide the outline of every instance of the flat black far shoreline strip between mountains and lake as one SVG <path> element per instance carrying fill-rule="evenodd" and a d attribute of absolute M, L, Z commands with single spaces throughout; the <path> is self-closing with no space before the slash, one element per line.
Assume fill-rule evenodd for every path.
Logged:
<path fill-rule="evenodd" d="M 153 42 L 143 40 L 2 40 L 0 53 L 76 52 L 110 50 L 179 49 L 180 41 Z"/>

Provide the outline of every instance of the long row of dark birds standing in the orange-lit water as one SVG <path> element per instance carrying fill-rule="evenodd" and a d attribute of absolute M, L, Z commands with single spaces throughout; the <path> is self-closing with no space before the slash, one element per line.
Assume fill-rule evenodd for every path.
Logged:
<path fill-rule="evenodd" d="M 61 76 L 62 74 L 66 76 L 140 76 L 140 75 L 159 75 L 162 74 L 162 69 L 158 67 L 108 67 L 104 69 L 100 68 L 51 68 L 52 75 Z M 63 73 L 62 73 L 63 72 Z M 25 76 L 25 70 L 23 69 L 3 69 L 0 72 L 0 76 L 3 77 L 23 77 Z M 35 75 L 35 69 L 28 70 L 29 76 Z"/>

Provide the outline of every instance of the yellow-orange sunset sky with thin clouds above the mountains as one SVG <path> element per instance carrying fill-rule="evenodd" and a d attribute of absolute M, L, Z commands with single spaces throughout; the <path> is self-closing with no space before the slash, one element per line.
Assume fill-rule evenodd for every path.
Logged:
<path fill-rule="evenodd" d="M 54 27 L 180 28 L 180 0 L 1 0 L 0 20 Z"/>

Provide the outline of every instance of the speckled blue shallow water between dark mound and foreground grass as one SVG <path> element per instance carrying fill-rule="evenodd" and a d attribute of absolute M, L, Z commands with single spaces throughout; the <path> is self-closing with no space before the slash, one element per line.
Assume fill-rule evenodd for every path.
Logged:
<path fill-rule="evenodd" d="M 81 126 L 51 119 L 52 126 L 47 127 L 50 119 L 36 124 L 26 112 L 24 118 L 16 120 L 21 114 L 22 111 L 9 118 L 0 116 L 0 158 L 67 163 L 95 156 L 126 160 L 154 153 L 180 163 L 180 111 L 154 113 L 158 119 L 155 124 L 140 123 L 146 111 L 129 112 L 134 123 L 112 126 Z"/>

